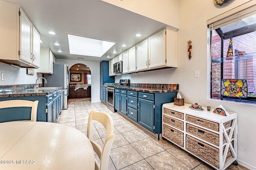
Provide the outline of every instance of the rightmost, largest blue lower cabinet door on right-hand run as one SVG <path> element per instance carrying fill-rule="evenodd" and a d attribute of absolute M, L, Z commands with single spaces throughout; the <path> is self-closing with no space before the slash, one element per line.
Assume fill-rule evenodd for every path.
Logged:
<path fill-rule="evenodd" d="M 138 99 L 138 123 L 150 131 L 154 131 L 154 102 Z"/>

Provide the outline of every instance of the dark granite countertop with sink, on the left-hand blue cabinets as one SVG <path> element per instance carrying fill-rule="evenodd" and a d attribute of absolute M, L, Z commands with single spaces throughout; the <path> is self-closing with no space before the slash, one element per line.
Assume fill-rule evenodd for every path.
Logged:
<path fill-rule="evenodd" d="M 62 89 L 62 87 L 47 87 L 47 88 L 8 88 L 8 89 L 0 89 L 0 98 L 8 98 L 8 97 L 22 97 L 22 96 L 45 96 L 48 94 L 52 94 L 58 90 Z"/>

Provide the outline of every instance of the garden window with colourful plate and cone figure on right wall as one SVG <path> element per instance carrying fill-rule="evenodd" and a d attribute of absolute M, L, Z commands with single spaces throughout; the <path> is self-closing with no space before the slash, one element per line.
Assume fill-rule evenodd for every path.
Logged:
<path fill-rule="evenodd" d="M 211 31 L 211 98 L 256 104 L 256 7 L 208 24 Z M 246 80 L 247 94 L 244 96 L 245 83 L 238 88 L 234 82 L 225 84 L 227 80 L 229 83 Z"/>

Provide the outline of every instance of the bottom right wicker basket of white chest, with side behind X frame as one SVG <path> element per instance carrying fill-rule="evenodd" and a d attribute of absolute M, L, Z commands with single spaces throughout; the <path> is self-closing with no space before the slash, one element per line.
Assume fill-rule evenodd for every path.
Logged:
<path fill-rule="evenodd" d="M 233 141 L 231 142 L 233 146 Z M 224 152 L 223 147 L 223 152 Z M 196 156 L 202 158 L 206 162 L 209 162 L 213 166 L 219 168 L 219 149 L 212 147 L 202 141 L 199 141 L 193 137 L 190 137 L 189 135 L 186 136 L 186 149 Z M 225 162 L 233 158 L 233 154 L 230 150 L 228 149 L 228 154 L 226 156 Z"/>

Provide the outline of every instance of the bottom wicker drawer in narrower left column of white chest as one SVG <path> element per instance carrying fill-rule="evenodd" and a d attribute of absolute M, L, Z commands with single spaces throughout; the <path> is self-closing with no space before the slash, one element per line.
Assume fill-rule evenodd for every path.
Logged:
<path fill-rule="evenodd" d="M 170 139 L 171 141 L 173 141 L 177 145 L 180 145 L 181 147 L 184 146 L 183 133 L 164 124 L 163 124 L 163 137 Z"/>

